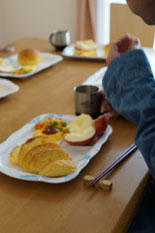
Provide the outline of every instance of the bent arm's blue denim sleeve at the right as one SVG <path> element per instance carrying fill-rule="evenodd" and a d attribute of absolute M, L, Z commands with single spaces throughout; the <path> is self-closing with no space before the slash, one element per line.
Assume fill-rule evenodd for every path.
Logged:
<path fill-rule="evenodd" d="M 114 59 L 103 78 L 112 107 L 138 124 L 135 143 L 155 178 L 155 79 L 142 50 Z"/>

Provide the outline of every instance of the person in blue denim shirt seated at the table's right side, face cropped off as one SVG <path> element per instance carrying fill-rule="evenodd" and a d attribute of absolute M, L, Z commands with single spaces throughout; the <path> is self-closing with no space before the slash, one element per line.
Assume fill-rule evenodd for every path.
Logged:
<path fill-rule="evenodd" d="M 145 23 L 155 25 L 155 0 L 127 0 L 127 3 Z M 112 43 L 103 78 L 104 102 L 113 115 L 119 114 L 137 124 L 135 144 L 155 179 L 155 78 L 138 45 L 138 40 L 129 35 Z M 155 185 L 148 190 L 128 230 L 128 233 L 143 232 L 155 233 Z"/>

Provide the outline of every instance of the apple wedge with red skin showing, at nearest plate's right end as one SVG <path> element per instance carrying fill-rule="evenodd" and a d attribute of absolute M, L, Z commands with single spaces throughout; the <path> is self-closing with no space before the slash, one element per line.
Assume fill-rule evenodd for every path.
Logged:
<path fill-rule="evenodd" d="M 108 115 L 104 114 L 94 121 L 97 136 L 102 136 L 108 126 Z"/>

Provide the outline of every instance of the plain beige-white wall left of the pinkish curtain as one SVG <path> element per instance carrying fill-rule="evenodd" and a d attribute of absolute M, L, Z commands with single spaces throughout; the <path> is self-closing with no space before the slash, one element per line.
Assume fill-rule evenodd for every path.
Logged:
<path fill-rule="evenodd" d="M 23 37 L 69 30 L 76 40 L 77 0 L 0 0 L 0 46 Z"/>

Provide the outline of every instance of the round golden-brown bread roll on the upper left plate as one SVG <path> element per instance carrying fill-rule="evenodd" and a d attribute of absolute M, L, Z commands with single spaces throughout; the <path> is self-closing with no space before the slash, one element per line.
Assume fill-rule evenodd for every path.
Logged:
<path fill-rule="evenodd" d="M 41 53 L 37 49 L 24 49 L 18 54 L 20 65 L 36 65 L 41 61 Z"/>

